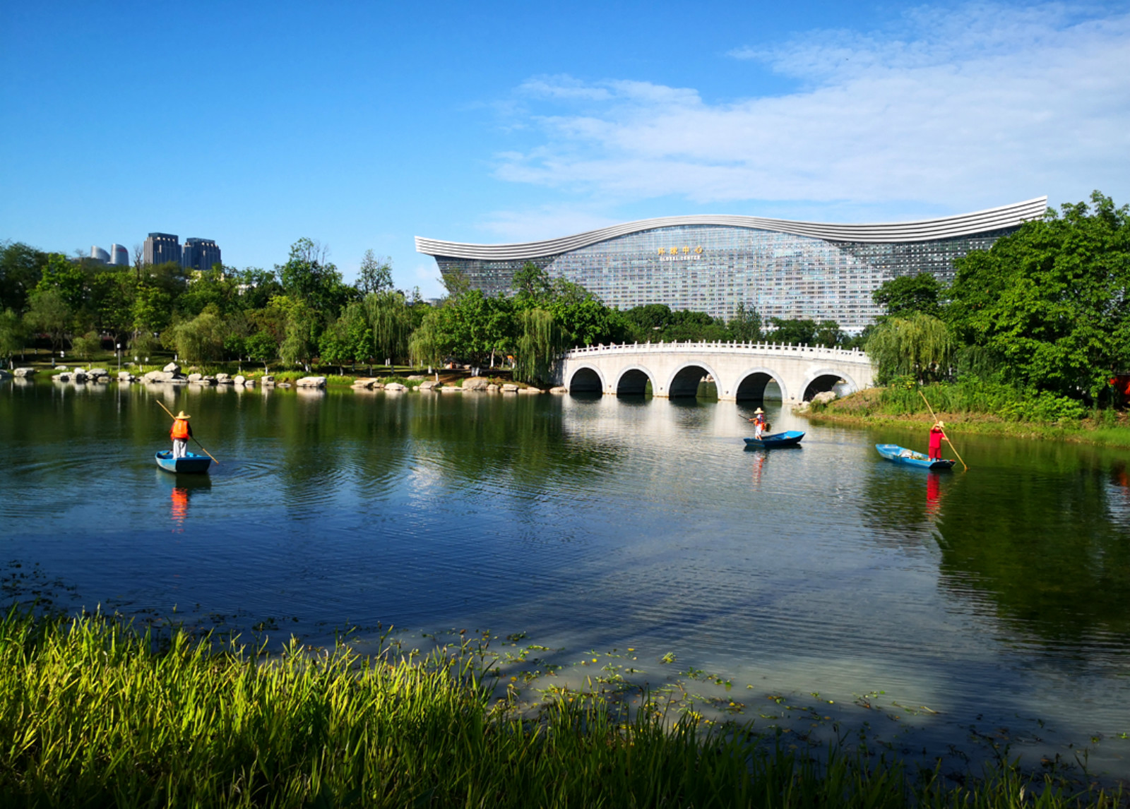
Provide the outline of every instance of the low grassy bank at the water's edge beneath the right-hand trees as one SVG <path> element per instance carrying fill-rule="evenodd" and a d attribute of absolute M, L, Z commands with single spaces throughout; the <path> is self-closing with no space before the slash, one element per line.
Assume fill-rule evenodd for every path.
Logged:
<path fill-rule="evenodd" d="M 1090 411 L 1072 400 L 977 382 L 869 388 L 832 402 L 814 402 L 801 415 L 814 421 L 860 426 L 929 424 L 933 419 L 923 393 L 935 414 L 959 424 L 963 433 L 1130 446 L 1125 412 Z"/>

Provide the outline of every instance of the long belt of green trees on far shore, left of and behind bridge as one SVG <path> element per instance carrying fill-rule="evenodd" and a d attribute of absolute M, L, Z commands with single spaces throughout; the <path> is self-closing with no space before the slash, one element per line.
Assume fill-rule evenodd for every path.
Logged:
<path fill-rule="evenodd" d="M 139 251 L 138 251 L 139 253 Z M 140 253 L 139 253 L 140 254 Z M 80 363 L 120 355 L 142 364 L 176 356 L 184 364 L 224 363 L 344 375 L 374 365 L 461 363 L 506 366 L 515 380 L 544 383 L 562 350 L 611 342 L 760 339 L 849 345 L 833 321 L 774 321 L 738 308 L 729 321 L 662 304 L 620 312 L 583 287 L 527 264 L 512 289 L 490 296 L 458 273 L 447 295 L 424 301 L 393 287 L 391 267 L 372 251 L 347 284 L 327 251 L 301 238 L 272 270 L 219 264 L 106 266 L 68 259 L 18 242 L 0 243 L 0 357 L 28 348 Z"/>

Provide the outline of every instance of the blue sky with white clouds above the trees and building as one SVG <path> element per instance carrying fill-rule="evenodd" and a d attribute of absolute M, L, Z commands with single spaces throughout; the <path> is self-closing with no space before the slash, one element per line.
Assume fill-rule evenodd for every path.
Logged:
<path fill-rule="evenodd" d="M 1130 2 L 0 5 L 0 238 L 412 236 L 1130 202 Z"/>

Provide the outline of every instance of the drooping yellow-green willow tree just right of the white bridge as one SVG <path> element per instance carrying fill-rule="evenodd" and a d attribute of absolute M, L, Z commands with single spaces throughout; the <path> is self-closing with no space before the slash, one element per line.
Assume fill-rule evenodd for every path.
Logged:
<path fill-rule="evenodd" d="M 880 383 L 895 376 L 929 382 L 949 374 L 954 338 L 942 321 L 915 312 L 877 325 L 867 340 L 867 355 L 878 366 Z"/>

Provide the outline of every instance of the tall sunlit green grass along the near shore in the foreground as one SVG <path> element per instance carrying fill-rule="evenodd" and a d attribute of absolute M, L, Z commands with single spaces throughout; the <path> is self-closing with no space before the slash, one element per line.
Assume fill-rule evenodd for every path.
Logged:
<path fill-rule="evenodd" d="M 1014 807 L 1122 804 L 1015 769 L 956 786 L 599 701 L 537 717 L 469 643 L 424 659 L 253 654 L 98 616 L 0 626 L 3 806 Z"/>

